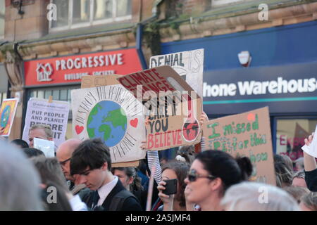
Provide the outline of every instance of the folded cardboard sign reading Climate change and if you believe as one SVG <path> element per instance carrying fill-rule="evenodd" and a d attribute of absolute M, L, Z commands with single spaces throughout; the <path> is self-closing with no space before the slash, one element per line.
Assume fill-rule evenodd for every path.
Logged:
<path fill-rule="evenodd" d="M 201 98 L 173 68 L 165 65 L 117 80 L 149 109 L 146 112 L 149 113 L 148 150 L 188 146 L 201 141 Z M 157 105 L 158 101 L 161 105 Z"/>

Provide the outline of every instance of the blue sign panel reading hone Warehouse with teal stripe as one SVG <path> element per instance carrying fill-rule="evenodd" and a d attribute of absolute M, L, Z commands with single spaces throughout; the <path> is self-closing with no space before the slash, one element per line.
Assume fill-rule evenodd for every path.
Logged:
<path fill-rule="evenodd" d="M 270 113 L 317 112 L 317 62 L 204 73 L 206 113 L 243 113 L 266 105 Z"/>

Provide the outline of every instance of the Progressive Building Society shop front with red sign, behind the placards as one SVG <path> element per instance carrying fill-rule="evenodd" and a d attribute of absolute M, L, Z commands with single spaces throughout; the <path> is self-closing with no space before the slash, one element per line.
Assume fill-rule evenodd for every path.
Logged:
<path fill-rule="evenodd" d="M 49 99 L 49 96 L 53 96 L 53 100 L 71 103 L 70 92 L 80 89 L 82 76 L 126 75 L 142 69 L 137 49 L 133 48 L 27 60 L 24 62 L 25 105 L 31 97 Z M 66 139 L 71 137 L 70 108 Z"/>

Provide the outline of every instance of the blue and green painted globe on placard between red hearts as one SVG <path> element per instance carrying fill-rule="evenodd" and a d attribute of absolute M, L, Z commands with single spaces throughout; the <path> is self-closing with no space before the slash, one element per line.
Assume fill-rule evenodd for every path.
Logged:
<path fill-rule="evenodd" d="M 94 105 L 87 120 L 90 139 L 101 138 L 108 147 L 116 146 L 127 130 L 127 116 L 118 103 L 101 101 Z"/>

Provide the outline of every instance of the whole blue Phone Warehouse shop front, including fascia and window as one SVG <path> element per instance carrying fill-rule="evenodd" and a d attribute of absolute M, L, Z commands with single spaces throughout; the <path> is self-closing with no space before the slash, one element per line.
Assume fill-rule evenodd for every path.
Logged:
<path fill-rule="evenodd" d="M 161 49 L 163 54 L 204 49 L 203 100 L 209 118 L 268 106 L 274 153 L 296 160 L 317 124 L 316 25 L 172 41 Z"/>

